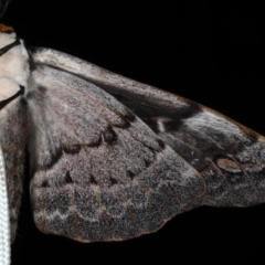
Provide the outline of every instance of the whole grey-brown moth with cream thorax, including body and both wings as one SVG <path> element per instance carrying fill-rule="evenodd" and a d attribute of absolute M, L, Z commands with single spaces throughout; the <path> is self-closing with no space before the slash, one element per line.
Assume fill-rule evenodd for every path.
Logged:
<path fill-rule="evenodd" d="M 0 65 L 13 237 L 26 149 L 38 227 L 78 241 L 135 237 L 199 205 L 263 201 L 263 137 L 70 55 L 26 50 L 11 31 Z"/>

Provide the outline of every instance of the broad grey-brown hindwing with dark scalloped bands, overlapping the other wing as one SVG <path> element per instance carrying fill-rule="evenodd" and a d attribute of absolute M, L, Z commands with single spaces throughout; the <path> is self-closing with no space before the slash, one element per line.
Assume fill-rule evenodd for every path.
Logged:
<path fill-rule="evenodd" d="M 36 64 L 26 95 L 34 221 L 82 242 L 158 230 L 205 192 L 200 173 L 113 96 Z"/>

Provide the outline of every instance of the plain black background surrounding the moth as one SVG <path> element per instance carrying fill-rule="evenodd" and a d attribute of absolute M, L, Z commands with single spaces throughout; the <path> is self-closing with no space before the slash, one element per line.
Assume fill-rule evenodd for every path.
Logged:
<path fill-rule="evenodd" d="M 157 6 L 13 0 L 2 22 L 29 45 L 53 47 L 171 91 L 265 135 L 262 11 L 245 0 Z M 40 233 L 29 202 L 25 193 L 12 265 L 265 262 L 264 205 L 201 208 L 151 235 L 81 244 Z"/>

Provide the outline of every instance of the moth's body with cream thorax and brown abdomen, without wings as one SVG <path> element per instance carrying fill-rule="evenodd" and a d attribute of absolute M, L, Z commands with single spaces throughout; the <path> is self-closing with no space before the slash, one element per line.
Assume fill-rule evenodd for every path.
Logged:
<path fill-rule="evenodd" d="M 15 237 L 23 193 L 28 140 L 23 97 L 30 76 L 29 55 L 11 28 L 0 26 L 0 141 L 7 171 L 11 239 Z"/>

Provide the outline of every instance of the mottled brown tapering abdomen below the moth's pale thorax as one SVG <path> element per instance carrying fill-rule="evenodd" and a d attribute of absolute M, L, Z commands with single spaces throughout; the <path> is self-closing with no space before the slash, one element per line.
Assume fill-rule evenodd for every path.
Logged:
<path fill-rule="evenodd" d="M 26 103 L 21 96 L 10 102 L 0 112 L 0 141 L 6 163 L 11 241 L 13 242 L 23 193 L 28 141 Z"/>

